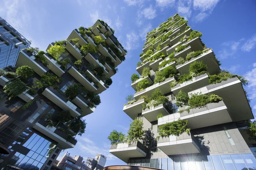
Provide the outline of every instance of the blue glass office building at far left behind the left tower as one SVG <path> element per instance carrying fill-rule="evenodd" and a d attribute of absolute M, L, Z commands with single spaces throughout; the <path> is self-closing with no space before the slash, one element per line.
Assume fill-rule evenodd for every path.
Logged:
<path fill-rule="evenodd" d="M 0 68 L 15 66 L 19 52 L 30 42 L 0 17 Z"/>

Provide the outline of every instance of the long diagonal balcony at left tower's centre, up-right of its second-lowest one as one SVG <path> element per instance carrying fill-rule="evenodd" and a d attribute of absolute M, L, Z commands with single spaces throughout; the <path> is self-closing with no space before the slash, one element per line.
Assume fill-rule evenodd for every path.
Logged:
<path fill-rule="evenodd" d="M 80 73 L 75 65 L 73 65 L 68 72 L 89 91 L 98 90 L 97 86 L 93 82 L 91 82 L 90 79 L 84 73 Z"/>

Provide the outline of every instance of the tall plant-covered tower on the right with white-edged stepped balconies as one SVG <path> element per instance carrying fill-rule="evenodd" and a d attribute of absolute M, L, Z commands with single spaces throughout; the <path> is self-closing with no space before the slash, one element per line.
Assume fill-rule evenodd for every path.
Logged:
<path fill-rule="evenodd" d="M 255 169 L 247 80 L 222 71 L 201 36 L 178 14 L 148 33 L 123 108 L 134 121 L 126 138 L 111 132 L 110 153 L 163 170 Z"/>

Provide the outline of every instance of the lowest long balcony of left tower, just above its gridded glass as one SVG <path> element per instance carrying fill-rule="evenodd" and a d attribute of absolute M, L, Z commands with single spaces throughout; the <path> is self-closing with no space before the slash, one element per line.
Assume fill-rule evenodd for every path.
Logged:
<path fill-rule="evenodd" d="M 49 137 L 50 139 L 54 140 L 58 143 L 58 147 L 61 149 L 68 149 L 75 147 L 74 144 L 67 141 L 67 139 L 62 138 L 61 136 L 57 135 L 55 132 L 56 127 L 44 127 L 40 123 L 36 122 L 35 125 L 33 125 L 33 128 L 35 130 L 38 130 L 39 132 L 43 133 L 45 136 Z"/>

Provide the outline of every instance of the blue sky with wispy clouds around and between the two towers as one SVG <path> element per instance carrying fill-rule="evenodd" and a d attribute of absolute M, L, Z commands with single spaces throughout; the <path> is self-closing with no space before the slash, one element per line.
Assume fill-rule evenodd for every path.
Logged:
<path fill-rule="evenodd" d="M 189 26 L 203 33 L 202 40 L 221 61 L 221 68 L 243 75 L 253 113 L 256 113 L 256 1 L 254 0 L 0 0 L 0 16 L 33 47 L 46 50 L 50 42 L 66 39 L 74 28 L 105 20 L 128 50 L 125 62 L 112 77 L 113 84 L 101 96 L 96 111 L 86 116 L 86 132 L 77 137 L 72 156 L 85 159 L 98 153 L 106 165 L 125 164 L 108 153 L 109 133 L 127 132 L 131 119 L 122 111 L 125 97 L 134 94 L 131 74 L 142 52 L 146 33 L 179 13 Z M 238 96 L 239 99 L 239 96 Z M 64 153 L 61 153 L 62 156 Z"/>

